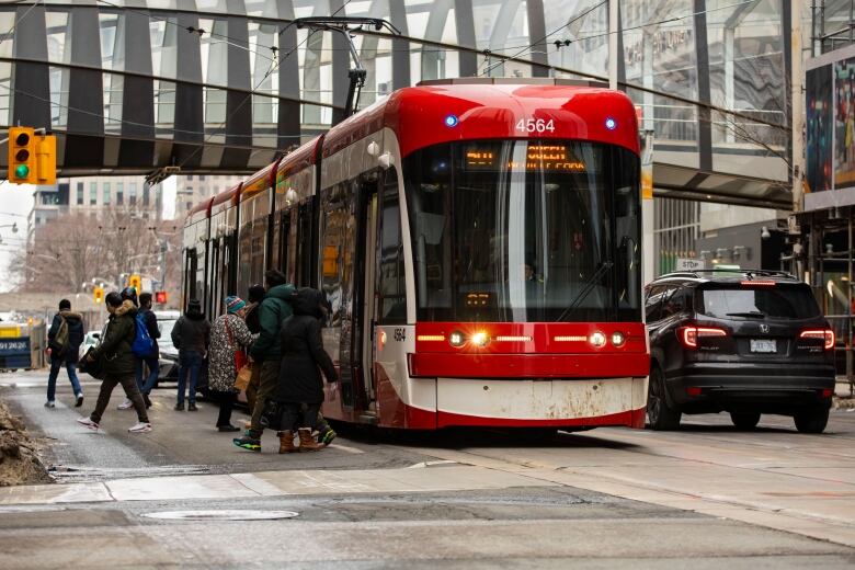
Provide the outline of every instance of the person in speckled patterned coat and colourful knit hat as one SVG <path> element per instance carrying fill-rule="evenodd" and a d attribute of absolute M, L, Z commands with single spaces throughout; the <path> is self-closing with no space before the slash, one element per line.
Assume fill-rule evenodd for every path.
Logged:
<path fill-rule="evenodd" d="M 217 317 L 210 328 L 208 388 L 212 399 L 219 403 L 217 429 L 220 432 L 240 431 L 231 425 L 231 410 L 238 397 L 235 379 L 247 362 L 246 350 L 253 340 L 243 321 L 246 305 L 240 297 L 226 297 L 226 314 Z"/>

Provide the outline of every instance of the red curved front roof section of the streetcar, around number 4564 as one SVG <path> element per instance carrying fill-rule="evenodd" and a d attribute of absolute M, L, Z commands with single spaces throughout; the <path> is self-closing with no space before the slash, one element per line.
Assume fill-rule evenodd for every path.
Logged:
<path fill-rule="evenodd" d="M 623 146 L 639 152 L 632 101 L 620 91 L 578 84 L 429 83 L 395 91 L 324 137 L 323 156 L 383 128 L 392 129 L 401 156 L 453 140 L 561 138 Z M 550 129 L 529 135 L 520 124 L 551 119 Z"/>

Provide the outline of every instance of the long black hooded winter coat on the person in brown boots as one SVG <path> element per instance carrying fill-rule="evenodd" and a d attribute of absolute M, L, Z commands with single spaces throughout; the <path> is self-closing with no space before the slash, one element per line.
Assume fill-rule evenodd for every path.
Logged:
<path fill-rule="evenodd" d="M 294 315 L 282 323 L 280 381 L 273 397 L 276 401 L 320 403 L 323 401 L 320 371 L 327 381 L 339 379 L 332 358 L 323 350 L 321 296 L 316 289 L 300 289 L 292 301 Z"/>

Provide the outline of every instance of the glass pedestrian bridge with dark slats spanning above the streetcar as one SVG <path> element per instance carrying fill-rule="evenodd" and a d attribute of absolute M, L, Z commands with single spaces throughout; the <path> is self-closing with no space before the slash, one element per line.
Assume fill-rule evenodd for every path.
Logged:
<path fill-rule="evenodd" d="M 657 192 L 789 208 L 790 3 L 618 4 Z M 55 132 L 64 176 L 251 172 L 343 114 L 347 42 L 289 25 L 329 15 L 400 31 L 354 34 L 361 107 L 423 79 L 608 77 L 602 0 L 21 1 L 0 5 L 0 125 Z"/>

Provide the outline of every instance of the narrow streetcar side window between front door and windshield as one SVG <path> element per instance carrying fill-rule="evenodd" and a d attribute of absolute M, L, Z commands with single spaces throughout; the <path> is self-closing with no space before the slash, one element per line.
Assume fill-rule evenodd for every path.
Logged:
<path fill-rule="evenodd" d="M 379 239 L 379 322 L 403 324 L 407 322 L 407 290 L 403 272 L 403 241 L 401 239 L 401 207 L 398 197 L 398 172 L 390 168 L 380 196 Z"/>

